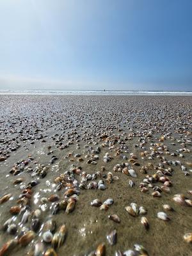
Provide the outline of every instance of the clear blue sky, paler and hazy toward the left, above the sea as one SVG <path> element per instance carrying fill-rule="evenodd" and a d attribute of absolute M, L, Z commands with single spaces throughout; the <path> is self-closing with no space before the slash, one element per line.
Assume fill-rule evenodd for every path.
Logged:
<path fill-rule="evenodd" d="M 191 0 L 1 0 L 0 89 L 192 91 Z"/>

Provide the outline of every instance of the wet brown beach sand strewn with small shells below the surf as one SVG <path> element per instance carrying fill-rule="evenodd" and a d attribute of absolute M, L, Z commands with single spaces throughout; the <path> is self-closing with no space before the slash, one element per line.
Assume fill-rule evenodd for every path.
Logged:
<path fill-rule="evenodd" d="M 89 253 L 101 243 L 105 255 L 134 250 L 134 244 L 144 246 L 148 255 L 192 255 L 192 243 L 184 241 L 184 235 L 192 232 L 191 102 L 190 96 L 1 95 L 0 198 L 12 195 L 0 204 L 0 247 L 28 232 L 33 212 L 40 209 L 41 225 L 48 216 L 56 221 L 52 234 L 63 224 L 67 228 L 57 255 L 95 255 Z M 132 169 L 136 177 L 129 174 Z M 64 173 L 63 180 L 56 179 Z M 170 181 L 168 186 L 159 177 Z M 21 183 L 13 184 L 17 179 Z M 38 184 L 30 186 L 31 180 Z M 90 182 L 97 187 L 99 180 L 104 190 L 88 189 Z M 72 199 L 74 211 L 67 214 L 59 209 L 52 214 L 54 205 L 68 200 L 64 195 L 68 188 L 79 194 L 77 201 Z M 152 195 L 155 190 L 160 197 Z M 58 200 L 49 202 L 47 198 L 55 194 Z M 173 200 L 176 194 L 184 194 L 183 205 Z M 19 197 L 27 198 L 27 207 L 17 202 Z M 90 205 L 96 198 L 114 202 L 104 211 Z M 141 224 L 142 215 L 125 211 L 132 202 L 147 209 L 143 216 L 148 229 Z M 164 204 L 173 211 L 164 210 Z M 13 205 L 20 205 L 22 214 L 29 211 L 26 223 L 20 224 L 21 213 L 10 213 Z M 165 212 L 170 220 L 159 220 L 157 212 Z M 117 214 L 120 223 L 109 220 L 111 214 Z M 2 228 L 10 218 L 15 234 Z M 106 235 L 115 229 L 117 241 L 111 246 Z M 2 255 L 51 255 L 44 254 L 52 247 L 45 242 L 45 249 L 35 253 L 37 241 L 42 241 L 41 229 L 26 246 L 19 242 Z M 147 255 L 132 253 L 127 255 Z"/>

